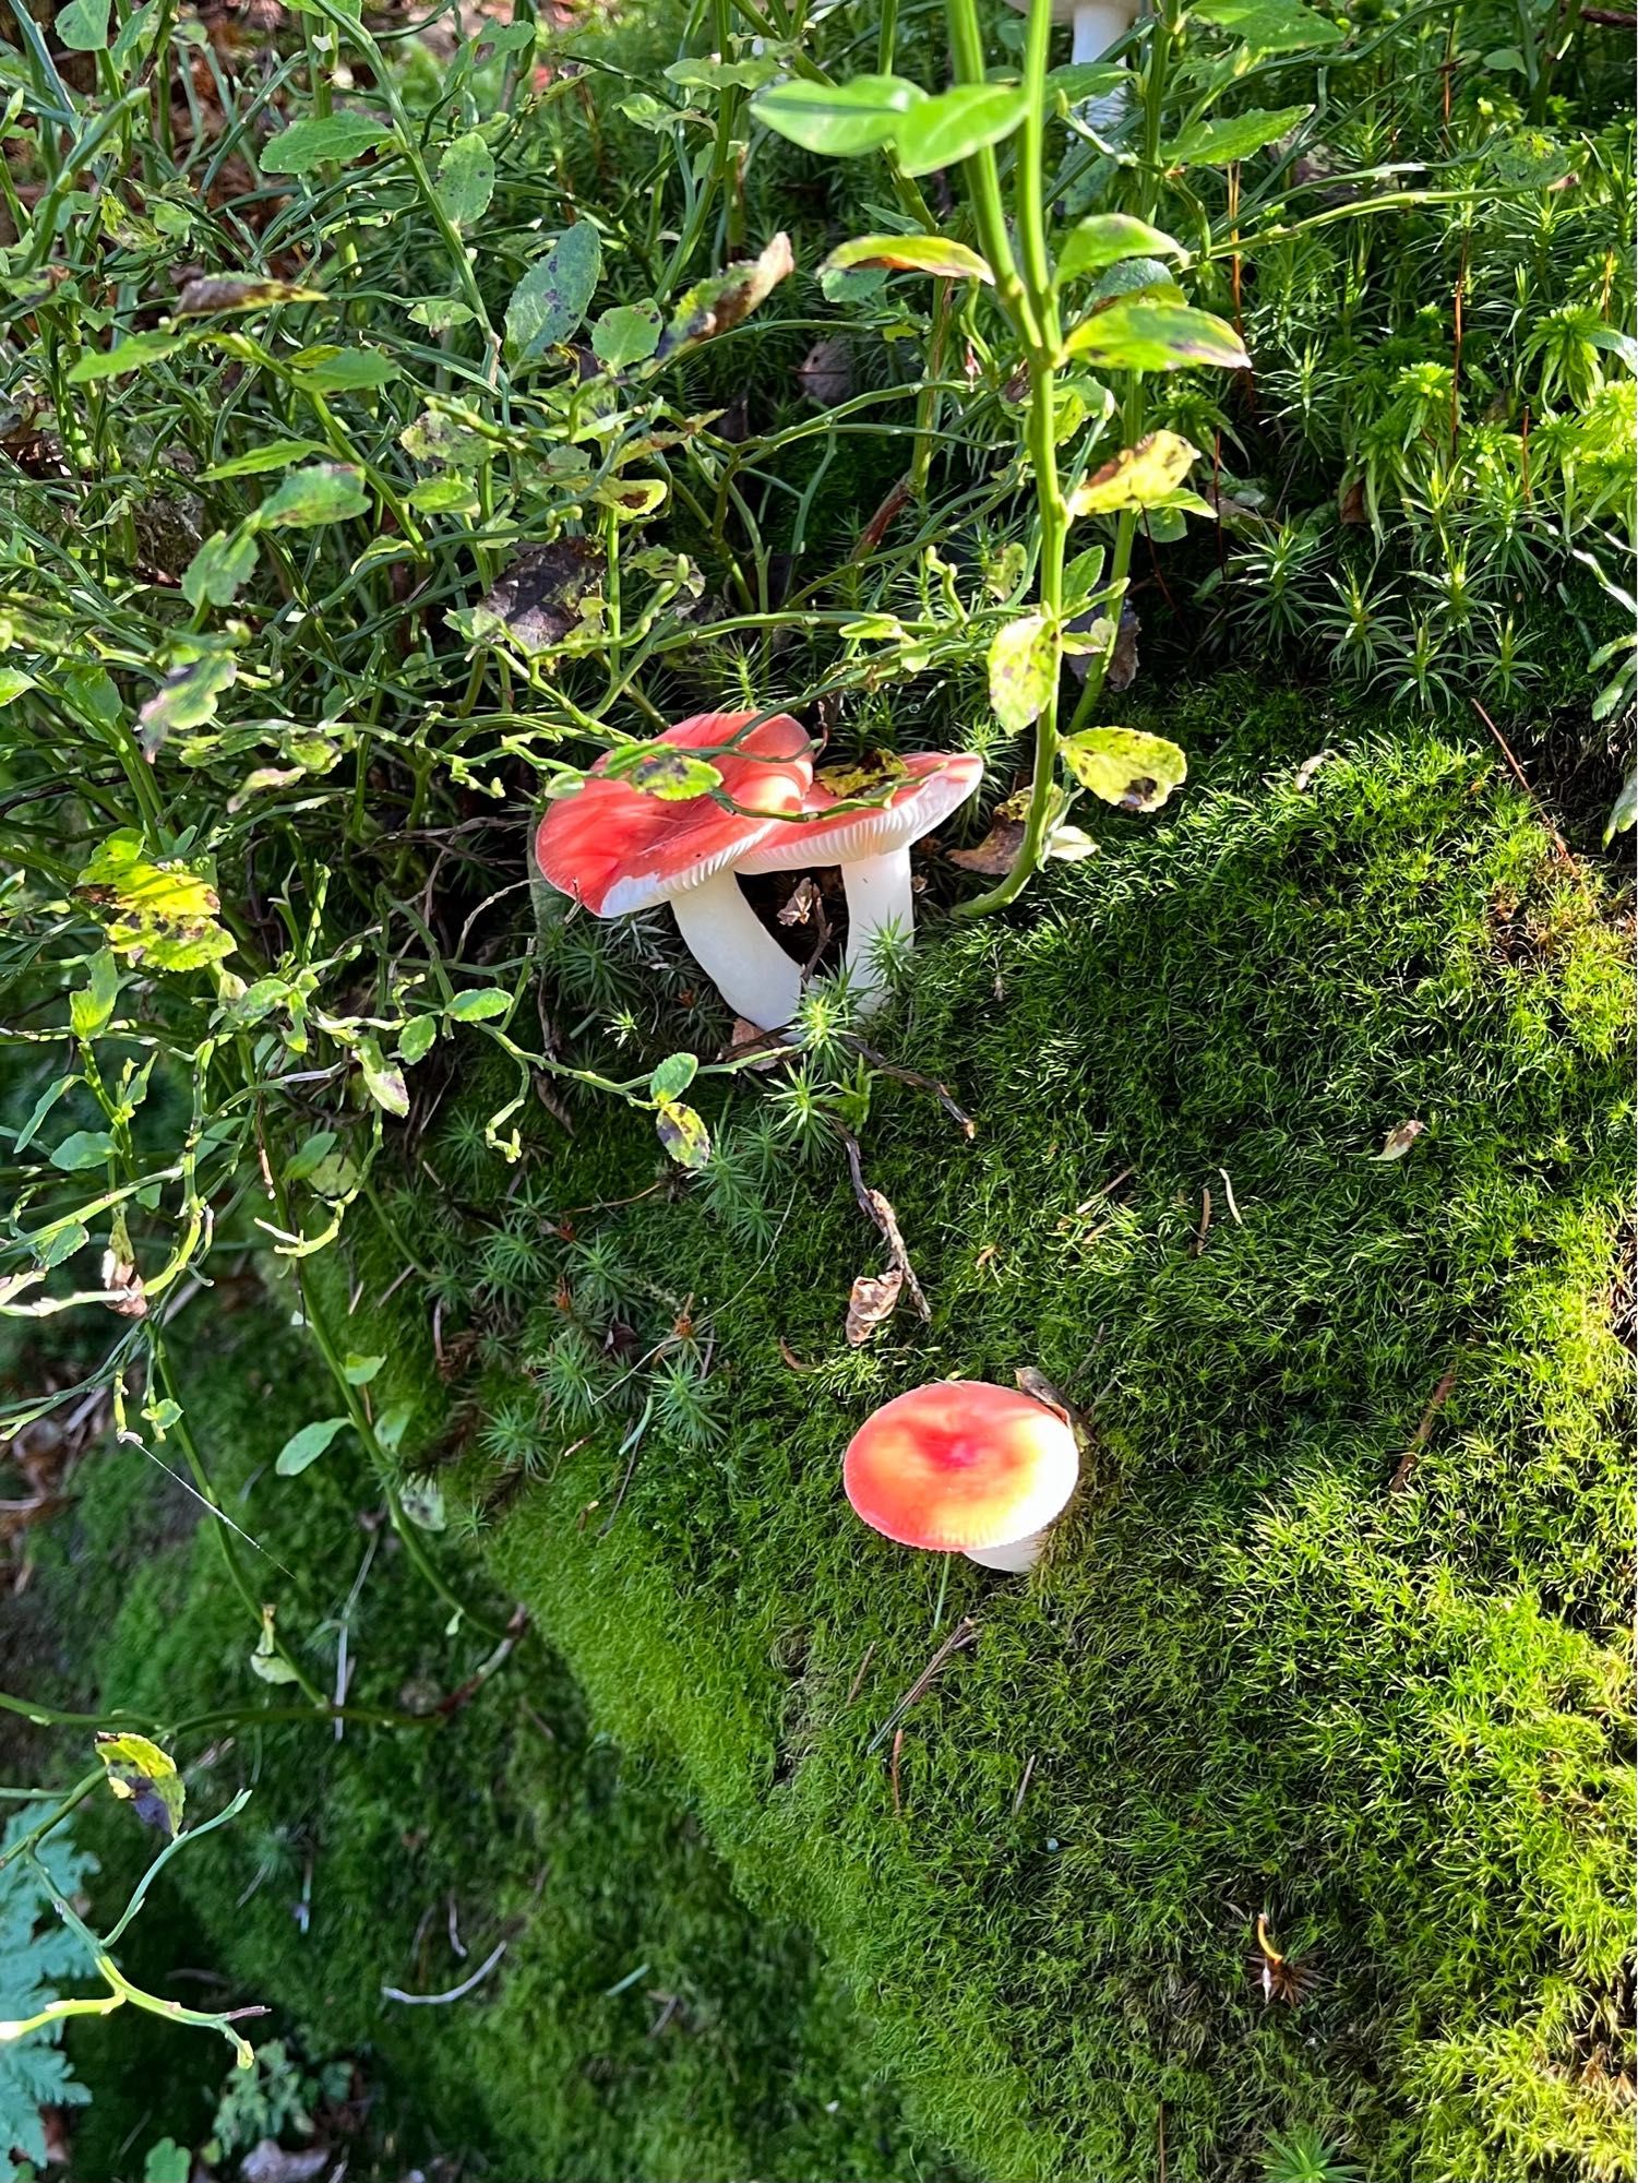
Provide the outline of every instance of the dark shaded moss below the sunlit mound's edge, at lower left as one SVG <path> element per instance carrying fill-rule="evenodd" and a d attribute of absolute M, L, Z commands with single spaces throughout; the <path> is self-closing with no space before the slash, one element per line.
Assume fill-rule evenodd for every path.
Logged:
<path fill-rule="evenodd" d="M 183 1312 L 173 1353 L 223 1504 L 258 1541 L 240 1543 L 247 1570 L 323 1687 L 347 1615 L 352 1703 L 426 1709 L 489 1646 L 450 1633 L 404 1567 L 356 1450 L 273 1474 L 330 1393 L 266 1305 L 212 1301 Z M 37 1585 L 81 1668 L 94 1655 L 103 1703 L 166 1718 L 286 1703 L 249 1674 L 256 1626 L 192 1504 L 131 1447 L 92 1458 L 79 1487 L 74 1535 L 44 1548 Z M 456 1580 L 494 1605 L 478 1572 Z M 371 2111 L 349 2174 L 397 2179 L 435 2155 L 472 2179 L 954 2174 L 909 2139 L 806 1932 L 749 1917 L 666 1768 L 594 1735 L 537 1639 L 441 1727 L 349 1727 L 339 1744 L 328 1725 L 249 1718 L 175 1742 L 192 1821 L 253 1794 L 173 1862 L 122 1963 L 186 2002 L 271 2004 L 249 2030 L 293 2037 L 310 2063 L 354 2056 Z M 111 1805 L 85 1838 L 107 1923 L 153 1838 Z M 382 1997 L 459 1987 L 498 1941 L 461 2002 Z M 72 2052 L 94 2091 L 74 2172 L 100 2183 L 140 2176 L 166 2133 L 197 2144 L 229 2063 L 216 2039 L 129 2013 L 76 2030 Z"/>

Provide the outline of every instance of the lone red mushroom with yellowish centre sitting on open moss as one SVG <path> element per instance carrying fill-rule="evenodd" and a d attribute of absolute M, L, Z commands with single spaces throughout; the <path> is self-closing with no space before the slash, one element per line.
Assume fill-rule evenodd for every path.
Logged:
<path fill-rule="evenodd" d="M 1059 1410 L 987 1380 L 935 1380 L 865 1419 L 843 1484 L 882 1537 L 1016 1572 L 1040 1561 L 1079 1469 Z"/>

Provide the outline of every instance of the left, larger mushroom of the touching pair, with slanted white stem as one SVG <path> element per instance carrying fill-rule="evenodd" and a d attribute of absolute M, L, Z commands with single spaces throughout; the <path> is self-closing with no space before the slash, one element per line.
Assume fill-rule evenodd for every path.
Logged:
<path fill-rule="evenodd" d="M 734 880 L 747 849 L 780 821 L 747 816 L 795 812 L 812 782 L 808 736 L 786 712 L 703 712 L 668 727 L 657 742 L 710 751 L 723 792 L 666 801 L 607 777 L 607 760 L 585 786 L 553 803 L 535 834 L 542 878 L 592 917 L 629 917 L 668 902 L 688 950 L 716 991 L 758 1030 L 788 1024 L 802 998 L 802 969 L 767 932 Z M 738 742 L 734 740 L 738 738 Z M 721 749 L 721 744 L 734 749 Z"/>

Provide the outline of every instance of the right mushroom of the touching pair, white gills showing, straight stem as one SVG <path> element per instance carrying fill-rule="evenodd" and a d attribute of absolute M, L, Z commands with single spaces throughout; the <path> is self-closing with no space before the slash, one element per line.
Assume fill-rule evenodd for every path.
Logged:
<path fill-rule="evenodd" d="M 852 797 L 876 792 L 869 779 L 850 788 L 847 775 L 817 779 L 804 797 L 804 825 L 775 825 L 740 860 L 740 871 L 793 871 L 806 864 L 839 864 L 847 895 L 847 976 L 854 995 L 869 1009 L 882 989 L 878 934 L 893 928 L 906 943 L 915 932 L 911 891 L 911 843 L 930 834 L 957 803 L 965 803 L 983 779 L 983 760 L 915 751 L 893 762 L 898 786 L 880 810 L 826 812 Z M 889 775 L 891 777 L 891 775 Z M 839 788 L 847 790 L 841 795 Z"/>

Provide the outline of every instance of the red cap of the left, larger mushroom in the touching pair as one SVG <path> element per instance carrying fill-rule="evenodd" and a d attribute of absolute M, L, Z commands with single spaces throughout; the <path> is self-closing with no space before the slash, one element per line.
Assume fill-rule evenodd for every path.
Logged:
<path fill-rule="evenodd" d="M 668 727 L 657 742 L 712 751 L 723 788 L 758 812 L 799 810 L 812 782 L 808 736 L 788 712 L 775 712 L 740 733 L 753 712 L 701 712 Z M 719 744 L 734 742 L 716 753 Z M 561 895 L 594 917 L 625 917 L 699 886 L 769 834 L 775 819 L 745 819 L 710 797 L 668 803 L 592 766 L 583 788 L 553 803 L 535 834 L 535 862 Z"/>

